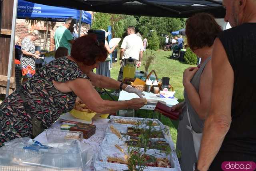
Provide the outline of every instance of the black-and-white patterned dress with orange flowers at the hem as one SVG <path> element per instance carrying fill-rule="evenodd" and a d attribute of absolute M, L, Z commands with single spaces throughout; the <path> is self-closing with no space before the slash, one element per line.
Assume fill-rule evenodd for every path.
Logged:
<path fill-rule="evenodd" d="M 22 40 L 21 49 L 30 52 L 31 54 L 35 53 L 35 46 L 30 38 L 24 38 Z M 22 76 L 30 78 L 34 74 L 36 74 L 36 63 L 35 59 L 32 56 L 26 56 L 22 54 L 22 57 L 20 58 L 20 63 Z"/>

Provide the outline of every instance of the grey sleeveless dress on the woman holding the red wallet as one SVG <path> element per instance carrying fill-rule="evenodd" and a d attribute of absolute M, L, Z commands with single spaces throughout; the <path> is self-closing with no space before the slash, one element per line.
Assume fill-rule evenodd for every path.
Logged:
<path fill-rule="evenodd" d="M 191 80 L 192 85 L 196 88 L 196 91 L 198 93 L 199 93 L 199 84 L 200 84 L 201 74 L 204 71 L 204 67 L 206 66 L 207 62 L 210 59 L 211 57 L 207 58 L 200 65 L 199 70 L 196 72 L 196 74 Z M 194 150 L 192 133 L 190 132 L 190 130 L 186 128 L 186 126 L 189 125 L 188 116 L 186 113 L 186 105 L 188 106 L 191 125 L 194 131 L 196 131 L 197 133 L 201 133 L 203 131 L 204 120 L 199 118 L 198 114 L 191 106 L 185 89 L 184 89 L 184 99 L 185 99 L 185 104 L 184 104 L 185 106 L 183 106 L 182 113 L 180 115 L 176 149 L 181 151 L 180 167 L 182 171 L 192 171 L 193 165 L 197 161 L 197 159 L 196 159 L 196 152 Z"/>

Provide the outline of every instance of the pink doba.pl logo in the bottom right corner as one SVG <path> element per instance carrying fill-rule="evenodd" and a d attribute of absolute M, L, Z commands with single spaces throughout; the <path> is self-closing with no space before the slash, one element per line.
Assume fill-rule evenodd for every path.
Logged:
<path fill-rule="evenodd" d="M 253 161 L 224 161 L 221 168 L 224 171 L 254 171 L 256 163 Z"/>

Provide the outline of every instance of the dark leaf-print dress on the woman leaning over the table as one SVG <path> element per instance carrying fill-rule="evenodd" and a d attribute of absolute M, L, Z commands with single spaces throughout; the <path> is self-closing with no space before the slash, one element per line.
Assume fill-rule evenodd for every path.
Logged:
<path fill-rule="evenodd" d="M 62 57 L 43 66 L 22 85 L 21 90 L 28 101 L 31 113 L 42 121 L 44 129 L 50 127 L 62 113 L 72 110 L 76 101 L 74 92 L 58 91 L 52 80 L 67 82 L 76 78 L 89 79 L 75 62 Z M 16 90 L 0 105 L 0 147 L 11 139 L 31 136 L 32 119 L 26 113 L 23 101 Z"/>

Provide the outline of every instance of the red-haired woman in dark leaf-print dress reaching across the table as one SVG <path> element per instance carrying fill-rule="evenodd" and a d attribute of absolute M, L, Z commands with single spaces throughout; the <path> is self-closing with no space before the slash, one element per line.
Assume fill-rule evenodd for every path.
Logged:
<path fill-rule="evenodd" d="M 97 113 L 114 113 L 120 109 L 139 109 L 144 99 L 127 101 L 103 100 L 95 87 L 124 89 L 142 97 L 143 93 L 130 85 L 92 72 L 108 56 L 103 42 L 96 35 L 77 38 L 71 56 L 61 57 L 46 64 L 0 104 L 0 147 L 18 137 L 32 137 L 32 118 L 46 129 L 62 113 L 73 109 L 78 96 L 86 106 Z M 23 103 L 24 96 L 27 103 Z M 28 106 L 25 107 L 24 106 Z M 28 109 L 31 111 L 29 112 Z M 30 113 L 30 114 L 29 114 Z M 36 135 L 34 135 L 36 136 Z"/>

